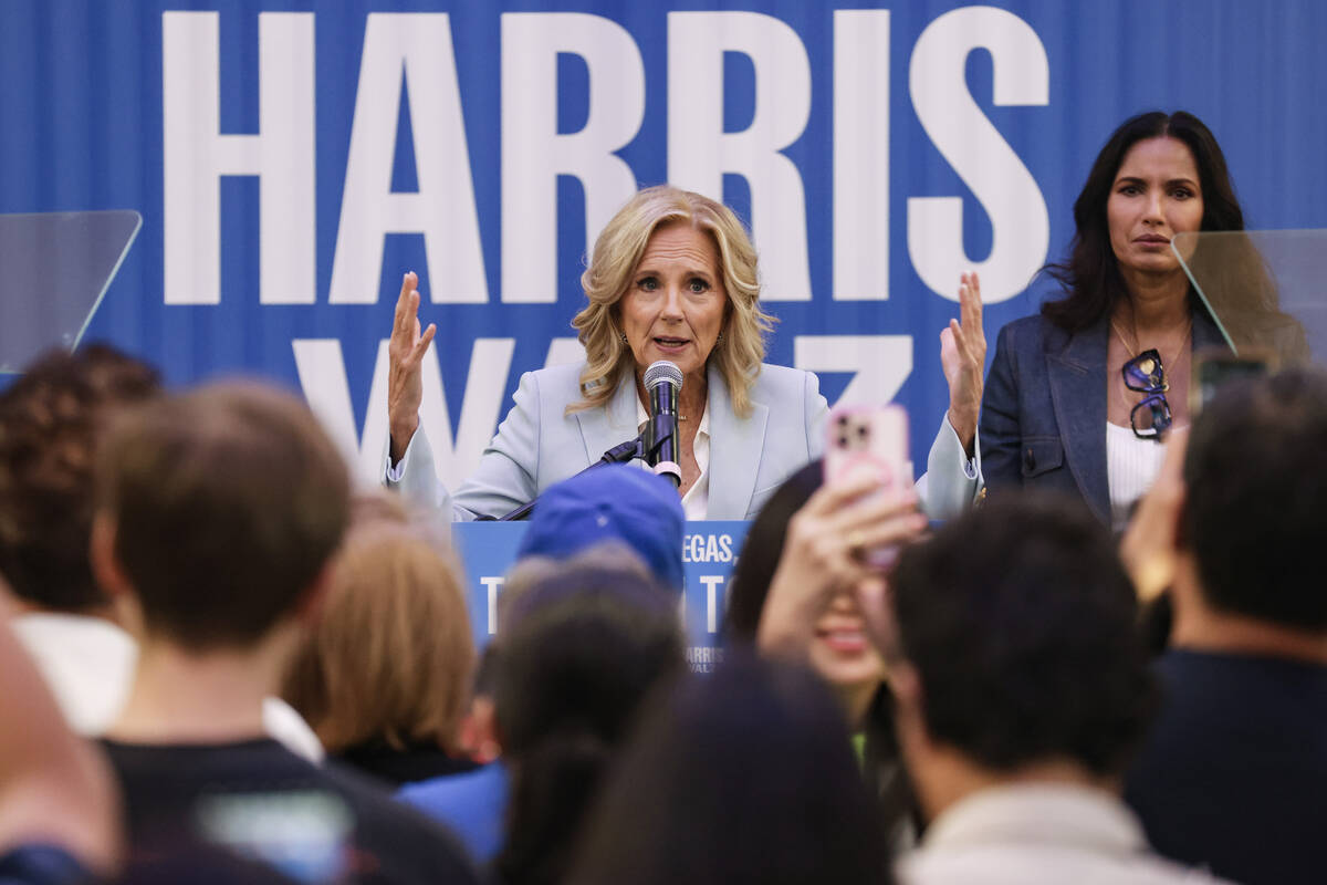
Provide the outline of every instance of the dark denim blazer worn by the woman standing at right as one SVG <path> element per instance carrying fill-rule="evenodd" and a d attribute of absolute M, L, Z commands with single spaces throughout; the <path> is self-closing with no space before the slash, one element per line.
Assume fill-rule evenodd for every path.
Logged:
<path fill-rule="evenodd" d="M 981 472 L 990 494 L 1055 490 L 1079 496 L 1111 524 L 1105 467 L 1105 352 L 1109 316 L 1070 333 L 1038 316 L 999 330 L 981 415 Z M 1198 309 L 1193 348 L 1225 345 Z"/>

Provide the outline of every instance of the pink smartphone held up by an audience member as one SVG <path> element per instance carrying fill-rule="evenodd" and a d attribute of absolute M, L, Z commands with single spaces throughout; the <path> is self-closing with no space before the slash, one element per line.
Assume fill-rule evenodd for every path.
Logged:
<path fill-rule="evenodd" d="M 912 484 L 908 411 L 902 406 L 840 406 L 825 427 L 825 482 L 876 478 L 881 490 Z"/>

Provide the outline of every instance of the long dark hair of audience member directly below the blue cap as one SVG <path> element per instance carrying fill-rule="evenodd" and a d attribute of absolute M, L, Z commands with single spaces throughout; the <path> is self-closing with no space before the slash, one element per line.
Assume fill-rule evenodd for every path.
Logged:
<path fill-rule="evenodd" d="M 560 882 L 642 698 L 682 669 L 677 593 L 638 569 L 561 569 L 515 601 L 495 698 L 511 770 L 507 885 Z"/>

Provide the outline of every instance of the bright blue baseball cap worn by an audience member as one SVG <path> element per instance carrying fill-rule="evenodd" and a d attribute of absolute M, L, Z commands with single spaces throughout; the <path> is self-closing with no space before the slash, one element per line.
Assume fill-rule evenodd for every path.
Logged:
<path fill-rule="evenodd" d="M 601 541 L 621 541 L 660 581 L 681 590 L 685 527 L 671 480 L 633 464 L 605 464 L 539 496 L 516 557 L 564 560 Z"/>

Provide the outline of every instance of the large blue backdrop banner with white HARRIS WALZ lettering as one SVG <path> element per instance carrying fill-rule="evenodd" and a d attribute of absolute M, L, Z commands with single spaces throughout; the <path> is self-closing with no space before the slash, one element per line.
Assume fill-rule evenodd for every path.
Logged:
<path fill-rule="evenodd" d="M 1327 227 L 1323 34 L 1318 0 L 7 0 L 0 214 L 139 212 L 85 338 L 303 390 L 364 478 L 417 271 L 454 487 L 577 358 L 587 244 L 670 180 L 752 227 L 770 361 L 901 402 L 924 452 L 959 273 L 991 338 L 1034 310 L 1125 117 L 1196 113 L 1250 227 Z"/>

